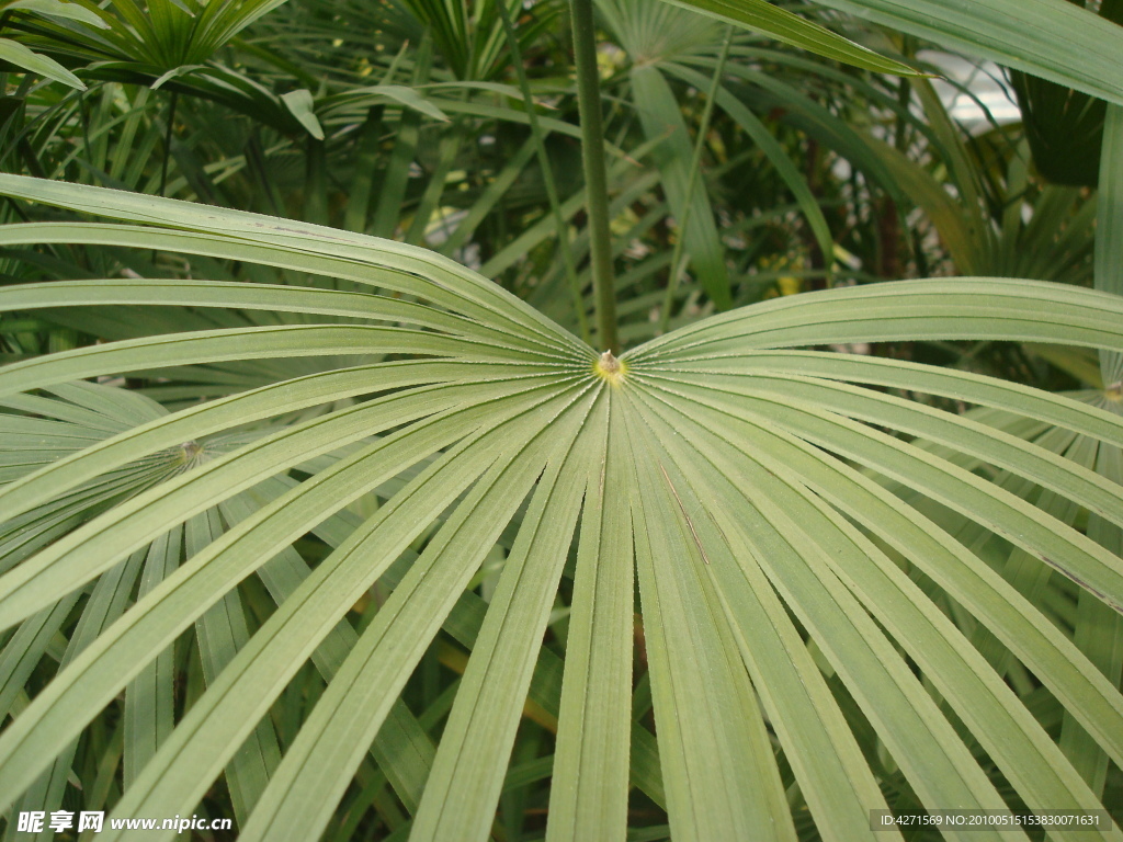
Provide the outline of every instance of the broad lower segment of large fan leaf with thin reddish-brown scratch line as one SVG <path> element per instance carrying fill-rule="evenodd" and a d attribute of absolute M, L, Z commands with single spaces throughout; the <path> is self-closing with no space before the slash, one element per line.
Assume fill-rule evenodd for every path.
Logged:
<path fill-rule="evenodd" d="M 676 839 L 795 839 L 756 694 L 713 602 L 710 564 L 629 406 L 632 523 L 667 808 Z"/>

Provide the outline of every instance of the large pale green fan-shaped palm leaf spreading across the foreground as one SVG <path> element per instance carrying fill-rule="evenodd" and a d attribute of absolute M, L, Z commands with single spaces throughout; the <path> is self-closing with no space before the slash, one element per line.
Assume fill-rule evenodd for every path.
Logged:
<path fill-rule="evenodd" d="M 930 807 L 1001 808 L 1007 786 L 1031 806 L 1101 807 L 1066 745 L 933 594 L 989 630 L 1120 763 L 1117 688 L 1039 605 L 891 486 L 958 512 L 1113 611 L 1123 606 L 1120 558 L 970 463 L 1115 525 L 1123 525 L 1120 486 L 1049 448 L 883 387 L 999 409 L 1115 447 L 1123 445 L 1120 414 L 977 375 L 797 348 L 987 338 L 1120 351 L 1117 296 L 971 278 L 839 290 L 707 319 L 618 360 L 417 248 L 93 187 L 3 176 L 0 189 L 119 220 L 8 226 L 3 245 L 170 250 L 299 268 L 347 286 L 107 280 L 7 287 L 0 305 L 21 311 L 147 302 L 310 317 L 141 336 L 13 364 L 0 372 L 0 394 L 22 413 L 42 405 L 29 391 L 95 375 L 255 357 L 367 357 L 107 427 L 0 487 L 4 520 L 45 525 L 67 494 L 115 476 L 138 479 L 130 467 L 138 460 L 328 406 L 88 510 L 81 525 L 0 577 L 4 625 L 21 624 L 4 655 L 18 660 L 20 647 L 42 646 L 37 630 L 82 588 L 100 586 L 122 564 L 135 567 L 141 548 L 166 552 L 162 542 L 177 524 L 214 506 L 225 512 L 227 529 L 195 529 L 185 562 L 118 620 L 107 615 L 0 736 L 4 805 L 121 690 L 126 704 L 131 694 L 150 695 L 150 665 L 177 635 L 314 533 L 330 555 L 312 569 L 293 561 L 290 585 L 272 588 L 276 610 L 252 634 L 237 623 L 227 629 L 206 692 L 170 734 L 146 732 L 149 748 L 135 756 L 147 762 L 130 775 L 115 815 L 189 815 L 225 769 L 240 794 L 239 816 L 248 814 L 244 838 L 312 839 L 373 747 L 413 814 L 412 839 L 483 839 L 528 694 L 559 715 L 551 840 L 623 838 L 629 781 L 666 805 L 676 840 L 793 839 L 777 758 L 824 839 L 873 838 L 868 811 L 886 806 L 886 778 L 864 753 L 859 719 Z M 332 404 L 345 399 L 356 400 Z M 305 468 L 304 482 L 285 476 L 332 452 L 338 458 Z M 367 519 L 340 514 L 411 468 Z M 257 495 L 253 505 L 238 502 L 245 493 Z M 465 588 L 512 519 L 517 537 L 483 604 Z M 411 542 L 431 524 L 414 558 Z M 546 683 L 562 666 L 541 638 L 574 543 L 559 688 Z M 380 579 L 393 593 L 356 635 L 341 621 Z M 658 774 L 652 736 L 630 715 L 636 583 Z M 472 655 L 433 752 L 395 703 L 442 626 Z M 42 649 L 28 651 L 25 661 Z M 263 717 L 309 659 L 328 684 L 277 762 Z"/>

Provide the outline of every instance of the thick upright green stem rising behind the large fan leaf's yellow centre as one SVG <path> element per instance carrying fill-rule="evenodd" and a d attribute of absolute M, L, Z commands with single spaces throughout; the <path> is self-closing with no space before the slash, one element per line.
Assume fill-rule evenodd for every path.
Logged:
<path fill-rule="evenodd" d="M 585 166 L 588 203 L 588 241 L 593 268 L 596 339 L 603 350 L 619 354 L 617 300 L 612 278 L 612 240 L 609 232 L 609 189 L 604 166 L 604 127 L 601 85 L 596 70 L 596 27 L 593 0 L 569 0 L 573 53 L 577 70 L 577 108 L 581 115 L 581 157 Z"/>

